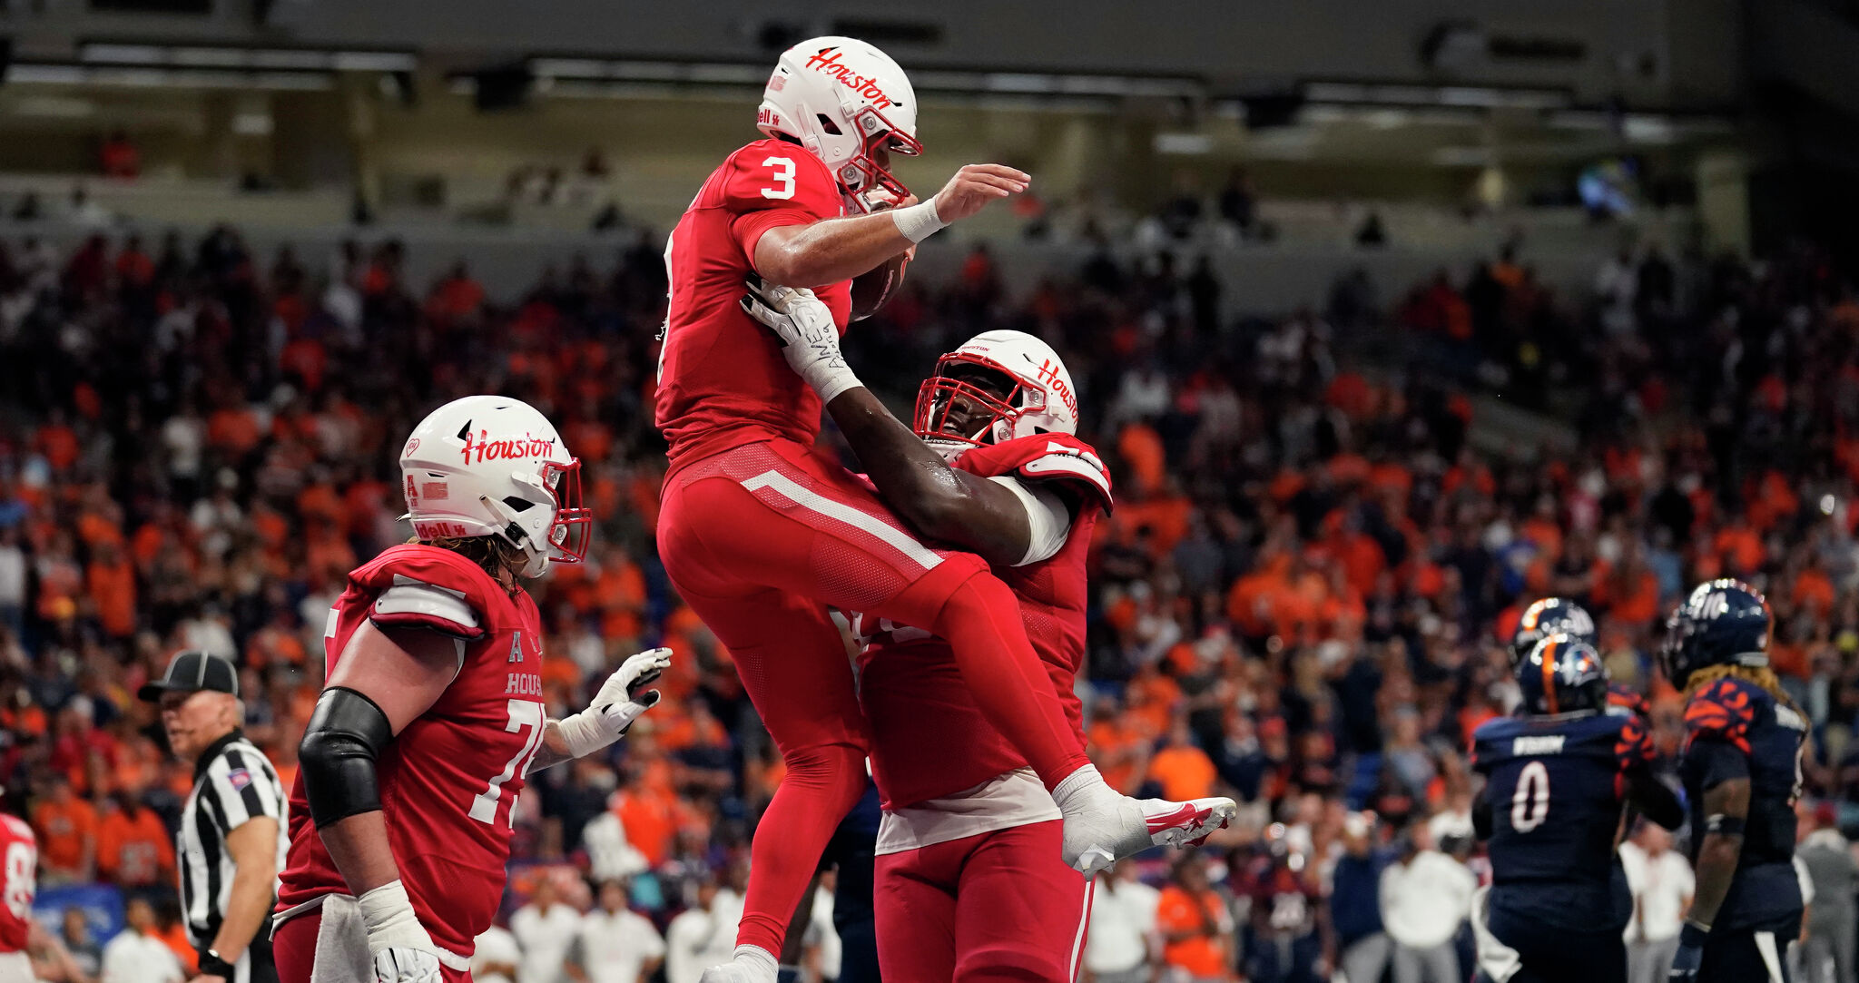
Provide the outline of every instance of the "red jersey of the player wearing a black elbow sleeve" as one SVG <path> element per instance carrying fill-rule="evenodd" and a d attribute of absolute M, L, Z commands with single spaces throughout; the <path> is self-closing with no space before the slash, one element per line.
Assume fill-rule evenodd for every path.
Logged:
<path fill-rule="evenodd" d="M 323 630 L 327 673 L 368 619 L 457 639 L 457 678 L 394 738 L 376 769 L 387 842 L 413 911 L 435 944 L 468 957 L 504 899 L 511 808 L 543 745 L 541 617 L 526 591 L 506 593 L 463 556 L 407 544 L 349 574 Z M 349 890 L 316 834 L 299 773 L 279 911 L 323 894 Z"/>

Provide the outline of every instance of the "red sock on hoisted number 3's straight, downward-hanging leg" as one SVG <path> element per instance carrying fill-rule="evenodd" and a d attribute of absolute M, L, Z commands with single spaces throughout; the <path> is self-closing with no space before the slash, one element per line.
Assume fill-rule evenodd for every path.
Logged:
<path fill-rule="evenodd" d="M 749 845 L 749 894 L 742 899 L 738 946 L 760 946 L 781 959 L 781 942 L 812 883 L 820 855 L 840 819 L 864 795 L 864 751 L 816 747 L 786 762 L 788 773 L 762 812 Z"/>

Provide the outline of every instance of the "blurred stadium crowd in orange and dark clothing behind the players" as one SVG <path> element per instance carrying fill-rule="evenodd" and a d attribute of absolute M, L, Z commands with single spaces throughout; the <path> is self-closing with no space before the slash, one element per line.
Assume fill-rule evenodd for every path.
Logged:
<path fill-rule="evenodd" d="M 1093 758 L 1125 792 L 1247 803 L 1199 853 L 1106 879 L 1097 979 L 1353 964 L 1363 983 L 1389 961 L 1400 983 L 1463 979 L 1480 872 L 1463 749 L 1513 701 L 1502 643 L 1543 595 L 1597 613 L 1612 678 L 1655 697 L 1669 754 L 1677 706 L 1651 658 L 1666 611 L 1703 578 L 1762 585 L 1775 667 L 1814 725 L 1803 829 L 1833 844 L 1859 827 L 1852 284 L 1807 247 L 1757 264 L 1645 249 L 1575 299 L 1526 253 L 1441 271 L 1392 308 L 1385 284 L 1346 275 L 1322 312 L 1253 320 L 1221 314 L 1205 264 L 1106 249 L 1009 290 L 976 249 L 848 338 L 900 409 L 937 353 L 987 327 L 1065 355 L 1119 498 L 1093 559 Z M 325 262 L 257 256 L 232 229 L 0 249 L 6 808 L 41 836 L 41 886 L 147 899 L 136 931 L 191 959 L 173 912 L 154 914 L 191 775 L 130 695 L 182 647 L 234 658 L 247 734 L 288 784 L 329 602 L 407 537 L 402 439 L 433 405 L 506 392 L 558 422 L 599 522 L 589 563 L 534 585 L 552 714 L 647 645 L 675 662 L 664 706 L 606 760 L 524 795 L 511 937 L 481 944 L 504 955 L 480 979 L 554 983 L 569 953 L 576 979 L 630 983 L 660 957 L 673 983 L 695 979 L 703 946 L 727 957 L 718 925 L 781 760 L 654 556 L 660 253 L 641 236 L 615 266 L 550 269 L 517 299 L 487 297 L 463 264 L 420 286 L 394 242 Z M 1565 426 L 1532 431 L 1545 446 L 1483 426 L 1491 392 Z M 1641 868 L 1669 864 L 1658 834 L 1634 842 Z M 1638 942 L 1677 933 L 1660 905 Z M 615 957 L 625 972 L 574 944 L 595 918 L 625 931 L 589 938 L 639 938 Z M 63 938 L 89 976 L 102 953 L 86 931 Z"/>

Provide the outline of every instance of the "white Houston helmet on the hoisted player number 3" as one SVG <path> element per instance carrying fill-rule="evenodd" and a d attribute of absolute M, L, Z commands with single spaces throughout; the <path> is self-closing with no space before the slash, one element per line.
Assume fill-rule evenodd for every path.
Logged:
<path fill-rule="evenodd" d="M 889 54 L 855 37 L 814 37 L 781 52 L 755 126 L 824 160 L 861 212 L 909 193 L 872 160 L 874 147 L 903 156 L 924 151 L 911 80 Z"/>

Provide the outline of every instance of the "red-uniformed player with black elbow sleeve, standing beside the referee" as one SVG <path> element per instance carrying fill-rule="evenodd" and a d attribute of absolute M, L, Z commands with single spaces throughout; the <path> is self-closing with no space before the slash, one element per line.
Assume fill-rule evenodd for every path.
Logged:
<path fill-rule="evenodd" d="M 416 543 L 349 572 L 327 684 L 297 751 L 273 948 L 283 983 L 468 979 L 504 898 L 524 775 L 599 751 L 658 702 L 669 663 L 628 658 L 593 704 L 543 708 L 521 578 L 587 554 L 580 463 L 535 409 L 467 396 L 400 453 Z"/>

